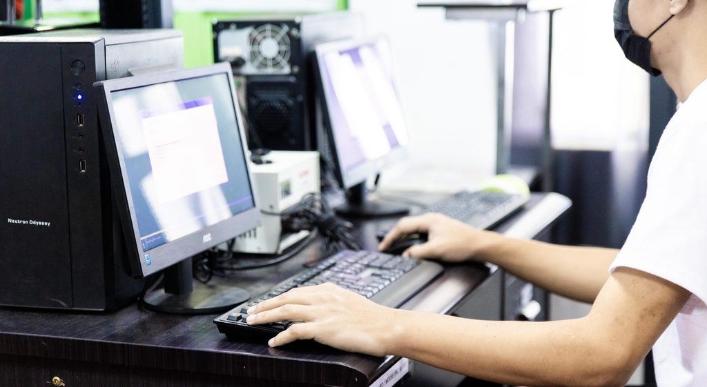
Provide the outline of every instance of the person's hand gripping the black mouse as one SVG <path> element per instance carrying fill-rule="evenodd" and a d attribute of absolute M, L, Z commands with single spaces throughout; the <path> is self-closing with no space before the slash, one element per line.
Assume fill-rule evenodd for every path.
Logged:
<path fill-rule="evenodd" d="M 385 235 L 378 245 L 379 250 L 387 249 L 396 239 L 407 234 L 426 233 L 427 242 L 411 246 L 404 256 L 411 258 L 439 258 L 447 262 L 463 262 L 503 238 L 501 234 L 477 230 L 445 215 L 430 213 L 402 218 Z"/>

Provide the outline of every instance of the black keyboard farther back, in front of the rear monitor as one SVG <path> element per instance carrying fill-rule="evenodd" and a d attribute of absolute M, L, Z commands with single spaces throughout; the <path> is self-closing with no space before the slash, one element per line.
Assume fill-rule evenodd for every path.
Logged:
<path fill-rule="evenodd" d="M 425 208 L 423 213 L 441 213 L 481 230 L 495 227 L 520 210 L 527 195 L 486 191 L 462 191 Z"/>

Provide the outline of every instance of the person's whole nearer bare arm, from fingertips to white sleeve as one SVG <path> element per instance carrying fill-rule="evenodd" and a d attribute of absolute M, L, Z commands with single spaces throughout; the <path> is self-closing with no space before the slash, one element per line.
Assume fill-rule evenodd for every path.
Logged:
<path fill-rule="evenodd" d="M 247 321 L 300 321 L 272 338 L 273 347 L 313 339 L 513 385 L 612 387 L 624 386 L 690 296 L 670 281 L 619 268 L 587 316 L 530 323 L 391 309 L 325 283 L 261 302 Z"/>

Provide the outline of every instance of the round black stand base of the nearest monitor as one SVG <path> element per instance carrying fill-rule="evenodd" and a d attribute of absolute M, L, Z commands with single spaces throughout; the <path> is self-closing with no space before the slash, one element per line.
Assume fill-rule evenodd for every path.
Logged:
<path fill-rule="evenodd" d="M 166 314 L 217 314 L 235 308 L 250 299 L 250 293 L 239 287 L 194 283 L 186 294 L 169 294 L 158 289 L 145 295 L 145 309 Z"/>

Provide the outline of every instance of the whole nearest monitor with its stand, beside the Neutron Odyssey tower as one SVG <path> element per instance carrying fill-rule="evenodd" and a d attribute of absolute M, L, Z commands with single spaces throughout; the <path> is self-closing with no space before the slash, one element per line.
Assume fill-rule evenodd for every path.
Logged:
<path fill-rule="evenodd" d="M 192 292 L 190 257 L 257 227 L 243 124 L 228 64 L 96 84 L 112 185 L 134 275 L 165 270 L 157 311 L 214 313 L 249 297 Z"/>

